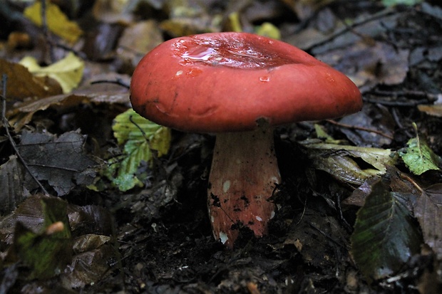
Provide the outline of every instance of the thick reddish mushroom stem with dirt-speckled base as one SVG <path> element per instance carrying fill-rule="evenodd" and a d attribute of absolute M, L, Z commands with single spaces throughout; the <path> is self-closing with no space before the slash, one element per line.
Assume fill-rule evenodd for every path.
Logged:
<path fill-rule="evenodd" d="M 273 127 L 217 134 L 207 191 L 215 238 L 232 247 L 240 226 L 256 236 L 267 233 L 275 206 L 268 199 L 281 182 Z"/>

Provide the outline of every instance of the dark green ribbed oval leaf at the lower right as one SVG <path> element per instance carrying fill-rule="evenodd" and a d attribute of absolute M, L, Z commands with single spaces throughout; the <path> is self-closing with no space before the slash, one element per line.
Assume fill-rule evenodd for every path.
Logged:
<path fill-rule="evenodd" d="M 421 233 L 404 196 L 376 182 L 357 213 L 351 255 L 368 280 L 396 273 L 420 251 Z"/>

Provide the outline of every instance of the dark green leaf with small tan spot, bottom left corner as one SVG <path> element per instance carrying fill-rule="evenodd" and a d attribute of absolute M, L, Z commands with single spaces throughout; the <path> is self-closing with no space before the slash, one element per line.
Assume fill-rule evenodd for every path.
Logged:
<path fill-rule="evenodd" d="M 20 222 L 14 232 L 14 250 L 28 266 L 29 279 L 52 278 L 63 272 L 72 258 L 72 238 L 66 201 L 42 198 L 43 231 L 35 233 Z"/>

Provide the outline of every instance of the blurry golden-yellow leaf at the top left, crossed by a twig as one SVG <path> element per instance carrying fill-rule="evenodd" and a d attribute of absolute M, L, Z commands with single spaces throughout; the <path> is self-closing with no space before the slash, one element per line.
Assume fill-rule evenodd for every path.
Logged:
<path fill-rule="evenodd" d="M 33 5 L 27 7 L 24 10 L 24 16 L 37 26 L 41 26 L 41 2 L 36 1 Z M 46 1 L 46 23 L 51 32 L 69 43 L 75 43 L 83 33 L 77 23 L 69 21 L 58 6 L 49 1 Z"/>

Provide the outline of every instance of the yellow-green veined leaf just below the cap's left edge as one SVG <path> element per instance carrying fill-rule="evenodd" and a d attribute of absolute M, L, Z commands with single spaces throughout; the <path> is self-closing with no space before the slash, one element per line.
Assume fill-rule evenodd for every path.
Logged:
<path fill-rule="evenodd" d="M 115 117 L 113 135 L 123 154 L 108 161 L 106 175 L 120 191 L 128 191 L 142 182 L 137 176 L 141 162 L 152 162 L 152 150 L 158 157 L 167 154 L 170 147 L 170 129 L 156 125 L 133 110 Z"/>

